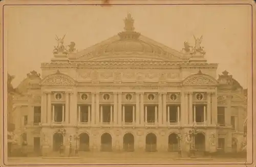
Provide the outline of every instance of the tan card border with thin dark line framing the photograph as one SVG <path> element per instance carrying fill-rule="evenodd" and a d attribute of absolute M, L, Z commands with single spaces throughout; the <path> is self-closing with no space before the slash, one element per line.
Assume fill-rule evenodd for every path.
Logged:
<path fill-rule="evenodd" d="M 23 1 L 22 1 L 23 2 Z M 30 2 L 30 1 L 28 1 L 28 2 Z M 59 1 L 59 2 L 62 2 L 62 1 Z M 65 1 L 64 1 L 65 2 Z M 74 1 L 74 2 L 76 2 L 76 1 Z M 159 2 L 161 2 L 161 1 L 159 1 Z M 163 3 L 163 4 L 158 4 L 158 3 L 152 3 L 152 4 L 147 4 L 147 3 L 144 3 L 144 4 L 136 4 L 136 3 L 134 3 L 134 4 L 130 4 L 130 3 L 128 3 L 128 4 L 107 4 L 107 5 L 104 5 L 104 6 L 123 6 L 123 5 L 125 5 L 125 6 L 154 6 L 154 5 L 157 5 L 157 6 L 159 6 L 159 5 L 163 5 L 163 6 L 182 6 L 182 5 L 191 5 L 191 6 L 199 6 L 199 5 L 205 5 L 205 6 L 210 6 L 210 5 L 221 5 L 221 6 L 224 6 L 224 5 L 232 5 L 232 6 L 236 6 L 236 5 L 250 5 L 251 6 L 251 91 L 252 91 L 252 93 L 250 94 L 248 94 L 248 96 L 249 96 L 249 98 L 251 98 L 251 107 L 249 107 L 249 108 L 251 108 L 252 109 L 252 112 L 251 112 L 251 124 L 249 124 L 248 123 L 248 126 L 247 126 L 247 129 L 248 129 L 248 127 L 249 126 L 251 126 L 251 130 L 250 130 L 250 133 L 252 133 L 253 131 L 254 131 L 254 129 L 253 129 L 253 117 L 254 117 L 254 114 L 253 114 L 253 93 L 254 93 L 254 88 L 253 88 L 253 81 L 254 81 L 254 79 L 253 79 L 253 69 L 254 69 L 254 67 L 253 67 L 253 61 L 254 61 L 254 59 L 253 59 L 253 49 L 254 49 L 254 43 L 253 43 L 253 39 L 254 39 L 254 37 L 253 37 L 253 21 L 255 20 L 255 18 L 253 17 L 253 13 L 254 13 L 254 11 L 253 11 L 253 5 L 252 4 L 250 4 L 250 3 L 248 3 L 248 1 L 244 1 L 244 2 L 247 2 L 247 3 L 234 3 L 234 4 L 232 4 L 231 2 L 230 3 L 175 3 L 175 2 L 177 2 L 177 1 L 175 1 L 175 2 L 172 2 L 172 1 L 168 1 L 170 4 L 165 4 L 165 3 Z M 197 1 L 198 2 L 198 1 Z M 251 2 L 253 2 L 253 1 L 251 1 Z M 7 2 L 4 2 L 4 3 L 7 3 Z M 33 3 L 33 2 L 32 2 Z M 6 96 L 5 96 L 5 89 L 6 89 L 6 82 L 4 82 L 4 80 L 5 80 L 5 78 L 6 78 L 6 75 L 7 75 L 7 71 L 5 71 L 5 68 L 4 68 L 4 66 L 7 66 L 7 65 L 5 65 L 5 63 L 6 63 L 6 58 L 4 58 L 4 52 L 5 52 L 5 50 L 4 50 L 4 7 L 6 7 L 6 6 L 102 6 L 102 4 L 100 4 L 100 3 L 94 3 L 94 4 L 80 4 L 80 3 L 78 3 L 78 4 L 44 4 L 44 3 L 42 3 L 42 4 L 19 4 L 19 3 L 17 3 L 17 4 L 2 4 L 2 42 L 3 42 L 3 44 L 2 44 L 2 47 L 3 47 L 3 49 L 2 49 L 2 54 L 3 54 L 3 56 L 2 56 L 2 69 L 3 69 L 3 71 L 2 71 L 2 74 L 3 74 L 3 88 L 2 88 L 2 91 L 3 91 L 3 111 L 4 110 L 6 110 L 6 104 L 7 104 L 7 100 L 5 99 L 6 98 Z M 70 3 L 70 2 L 69 2 Z M 254 2 L 255 3 L 255 2 Z M 255 4 L 254 4 L 255 5 Z M 254 20 L 253 20 L 254 19 Z M 250 96 L 251 95 L 251 96 Z M 248 99 L 249 99 L 248 98 Z M 248 103 L 248 102 L 247 102 Z M 249 109 L 248 109 L 249 110 Z M 247 110 L 247 113 L 248 113 L 248 110 Z M 248 155 L 247 155 L 247 160 L 246 160 L 246 163 L 222 163 L 222 162 L 220 162 L 220 163 L 106 163 L 106 164 L 102 164 L 102 163 L 84 163 L 84 164 L 72 164 L 72 163 L 65 163 L 65 164 L 54 164 L 54 163 L 49 163 L 49 164 L 32 164 L 32 163 L 28 163 L 28 164 L 26 164 L 26 163 L 24 163 L 24 164 L 6 164 L 6 156 L 7 155 L 5 155 L 6 153 L 6 151 L 5 150 L 7 150 L 7 145 L 6 145 L 6 142 L 7 142 L 7 134 L 6 134 L 6 130 L 5 130 L 5 125 L 6 125 L 6 120 L 4 119 L 5 117 L 6 117 L 6 114 L 5 114 L 5 112 L 3 112 L 3 118 L 2 118 L 2 120 L 3 120 L 3 124 L 2 124 L 2 126 L 3 126 L 3 128 L 2 128 L 2 130 L 3 130 L 3 135 L 2 135 L 2 140 L 3 140 L 3 142 L 2 142 L 2 146 L 3 146 L 3 148 L 2 148 L 2 150 L 1 150 L 1 152 L 2 152 L 2 159 L 3 159 L 3 163 L 4 163 L 4 165 L 7 165 L 7 166 L 23 166 L 23 165 L 27 165 L 27 166 L 38 166 L 38 165 L 53 165 L 53 166 L 61 166 L 61 165 L 85 165 L 85 166 L 96 166 L 96 165 L 100 165 L 100 166 L 103 166 L 103 165 L 113 165 L 113 166 L 116 166 L 116 165 L 184 165 L 184 164 L 186 164 L 186 165 L 188 165 L 188 164 L 196 164 L 196 165 L 202 165 L 202 164 L 204 164 L 204 165 L 206 165 L 206 164 L 227 164 L 227 165 L 232 165 L 232 164 L 244 164 L 244 165 L 247 165 L 247 164 L 253 164 L 253 162 L 254 162 L 254 142 L 253 142 L 253 139 L 254 139 L 254 135 L 253 135 L 253 133 L 251 134 L 251 138 L 252 138 L 252 140 L 250 140 L 251 141 L 251 143 L 252 143 L 252 153 L 251 153 L 251 156 L 252 156 L 252 161 L 251 161 L 251 163 L 248 163 L 247 161 L 248 161 Z M 248 115 L 247 115 L 248 116 Z M 248 118 L 249 118 L 249 116 L 248 116 Z M 247 136 L 247 138 L 248 138 L 248 136 Z M 248 139 L 247 139 L 247 141 L 248 141 Z M 248 154 L 248 149 L 247 149 L 247 154 Z M 249 153 L 250 154 L 250 153 Z"/>

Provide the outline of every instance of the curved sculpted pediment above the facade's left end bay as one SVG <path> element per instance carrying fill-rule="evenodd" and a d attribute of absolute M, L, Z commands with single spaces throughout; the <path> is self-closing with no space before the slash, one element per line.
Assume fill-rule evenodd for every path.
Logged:
<path fill-rule="evenodd" d="M 73 86 L 75 85 L 75 80 L 70 76 L 62 73 L 55 73 L 48 75 L 42 80 L 41 85 L 46 86 Z"/>

